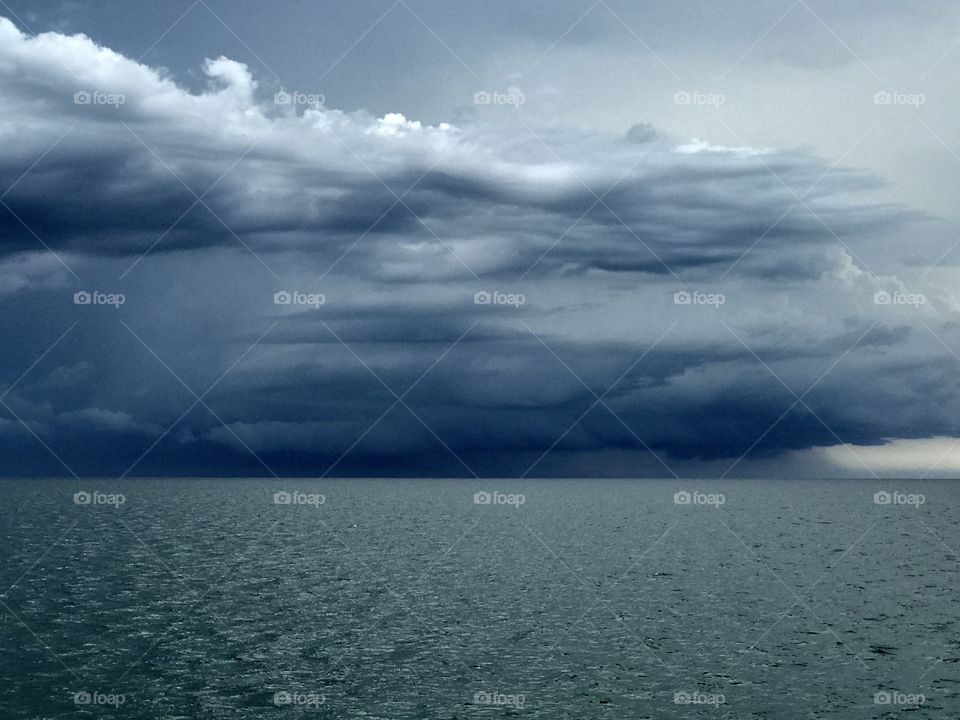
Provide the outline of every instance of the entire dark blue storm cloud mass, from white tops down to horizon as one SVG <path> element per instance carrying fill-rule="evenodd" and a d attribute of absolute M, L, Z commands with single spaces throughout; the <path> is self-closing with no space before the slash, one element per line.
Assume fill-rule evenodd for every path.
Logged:
<path fill-rule="evenodd" d="M 960 432 L 921 324 L 957 338 L 950 298 L 878 305 L 918 289 L 852 256 L 918 217 L 867 173 L 643 124 L 295 113 L 244 65 L 205 72 L 191 93 L 0 21 L 9 473 L 64 472 L 40 441 L 81 473 L 566 474 L 622 451 L 595 472 L 663 474 Z M 125 301 L 72 303 L 94 290 Z M 475 301 L 494 292 L 513 304 Z M 816 386 L 787 412 L 778 377 Z"/>

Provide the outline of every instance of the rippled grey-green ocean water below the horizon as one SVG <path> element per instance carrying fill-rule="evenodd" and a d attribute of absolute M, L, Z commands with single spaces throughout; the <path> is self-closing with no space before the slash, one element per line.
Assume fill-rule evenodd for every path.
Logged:
<path fill-rule="evenodd" d="M 0 481 L 0 717 L 957 718 L 958 490 Z"/>

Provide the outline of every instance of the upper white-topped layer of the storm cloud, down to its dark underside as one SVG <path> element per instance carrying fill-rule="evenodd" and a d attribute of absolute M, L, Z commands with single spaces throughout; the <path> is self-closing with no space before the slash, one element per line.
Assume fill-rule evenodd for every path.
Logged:
<path fill-rule="evenodd" d="M 254 250 L 339 255 L 370 229 L 355 248 L 368 275 L 402 262 L 397 243 L 440 247 L 434 234 L 465 256 L 462 276 L 472 264 L 501 275 L 534 266 L 669 272 L 730 264 L 766 233 L 747 270 L 771 244 L 782 252 L 784 241 L 833 242 L 821 219 L 865 236 L 904 216 L 851 204 L 874 181 L 842 171 L 821 180 L 826 166 L 804 155 L 558 130 L 518 141 L 402 116 L 278 114 L 257 98 L 249 71 L 226 59 L 207 63 L 217 86 L 197 96 L 80 37 L 28 38 L 10 24 L 2 33 L 8 112 L 35 128 L 0 157 L 0 181 L 14 186 L 5 202 L 15 215 L 0 220 L 8 252 L 35 247 L 34 233 L 54 249 L 133 257 L 155 244 L 231 245 L 236 233 Z M 123 102 L 77 105 L 76 92 Z M 794 208 L 791 188 L 808 192 L 809 209 Z"/>

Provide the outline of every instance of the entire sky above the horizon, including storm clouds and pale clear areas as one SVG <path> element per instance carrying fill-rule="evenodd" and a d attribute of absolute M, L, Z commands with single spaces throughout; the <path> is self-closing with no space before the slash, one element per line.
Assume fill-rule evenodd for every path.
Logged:
<path fill-rule="evenodd" d="M 0 0 L 0 474 L 955 477 L 960 8 Z"/>

